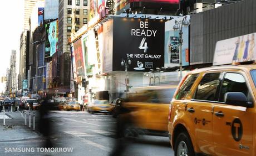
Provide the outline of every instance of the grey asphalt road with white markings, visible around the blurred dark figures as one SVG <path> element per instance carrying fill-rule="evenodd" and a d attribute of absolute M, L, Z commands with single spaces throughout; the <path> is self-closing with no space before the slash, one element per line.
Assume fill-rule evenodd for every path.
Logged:
<path fill-rule="evenodd" d="M 87 112 L 53 111 L 50 114 L 50 121 L 51 141 L 54 147 L 62 151 L 56 152 L 55 149 L 55 152 L 53 150 L 47 152 L 42 148 L 46 138 L 39 137 L 0 142 L 1 155 L 110 155 L 115 147 L 116 121 L 112 116 L 92 115 Z M 168 137 L 144 135 L 129 141 L 122 141 L 122 143 L 125 145 L 122 155 L 174 155 Z"/>

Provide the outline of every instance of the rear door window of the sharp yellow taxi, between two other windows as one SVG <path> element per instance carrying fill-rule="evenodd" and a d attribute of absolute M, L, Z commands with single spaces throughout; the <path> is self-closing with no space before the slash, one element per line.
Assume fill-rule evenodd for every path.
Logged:
<path fill-rule="evenodd" d="M 218 101 L 216 91 L 219 86 L 220 73 L 205 74 L 195 93 L 196 100 Z"/>

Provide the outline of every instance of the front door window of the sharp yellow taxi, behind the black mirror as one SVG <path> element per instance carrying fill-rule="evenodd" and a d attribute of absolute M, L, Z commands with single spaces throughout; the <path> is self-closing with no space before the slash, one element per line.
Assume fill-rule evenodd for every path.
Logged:
<path fill-rule="evenodd" d="M 250 93 L 244 77 L 238 73 L 227 73 L 224 77 L 220 91 L 220 102 L 224 102 L 226 92 L 243 92 L 250 101 Z"/>

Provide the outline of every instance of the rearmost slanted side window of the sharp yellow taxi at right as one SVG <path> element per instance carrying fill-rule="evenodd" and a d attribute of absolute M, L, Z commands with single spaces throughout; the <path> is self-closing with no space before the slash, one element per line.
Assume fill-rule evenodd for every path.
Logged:
<path fill-rule="evenodd" d="M 192 74 L 186 77 L 186 80 L 181 85 L 176 95 L 176 100 L 184 100 L 184 98 L 188 96 L 188 93 L 197 78 L 198 78 L 198 74 Z"/>

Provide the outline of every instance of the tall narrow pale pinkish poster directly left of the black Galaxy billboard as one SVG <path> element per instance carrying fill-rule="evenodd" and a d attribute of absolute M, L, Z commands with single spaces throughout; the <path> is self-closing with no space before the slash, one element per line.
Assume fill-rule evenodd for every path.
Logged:
<path fill-rule="evenodd" d="M 108 20 L 103 24 L 103 49 L 102 73 L 112 71 L 113 56 L 113 20 Z"/>

